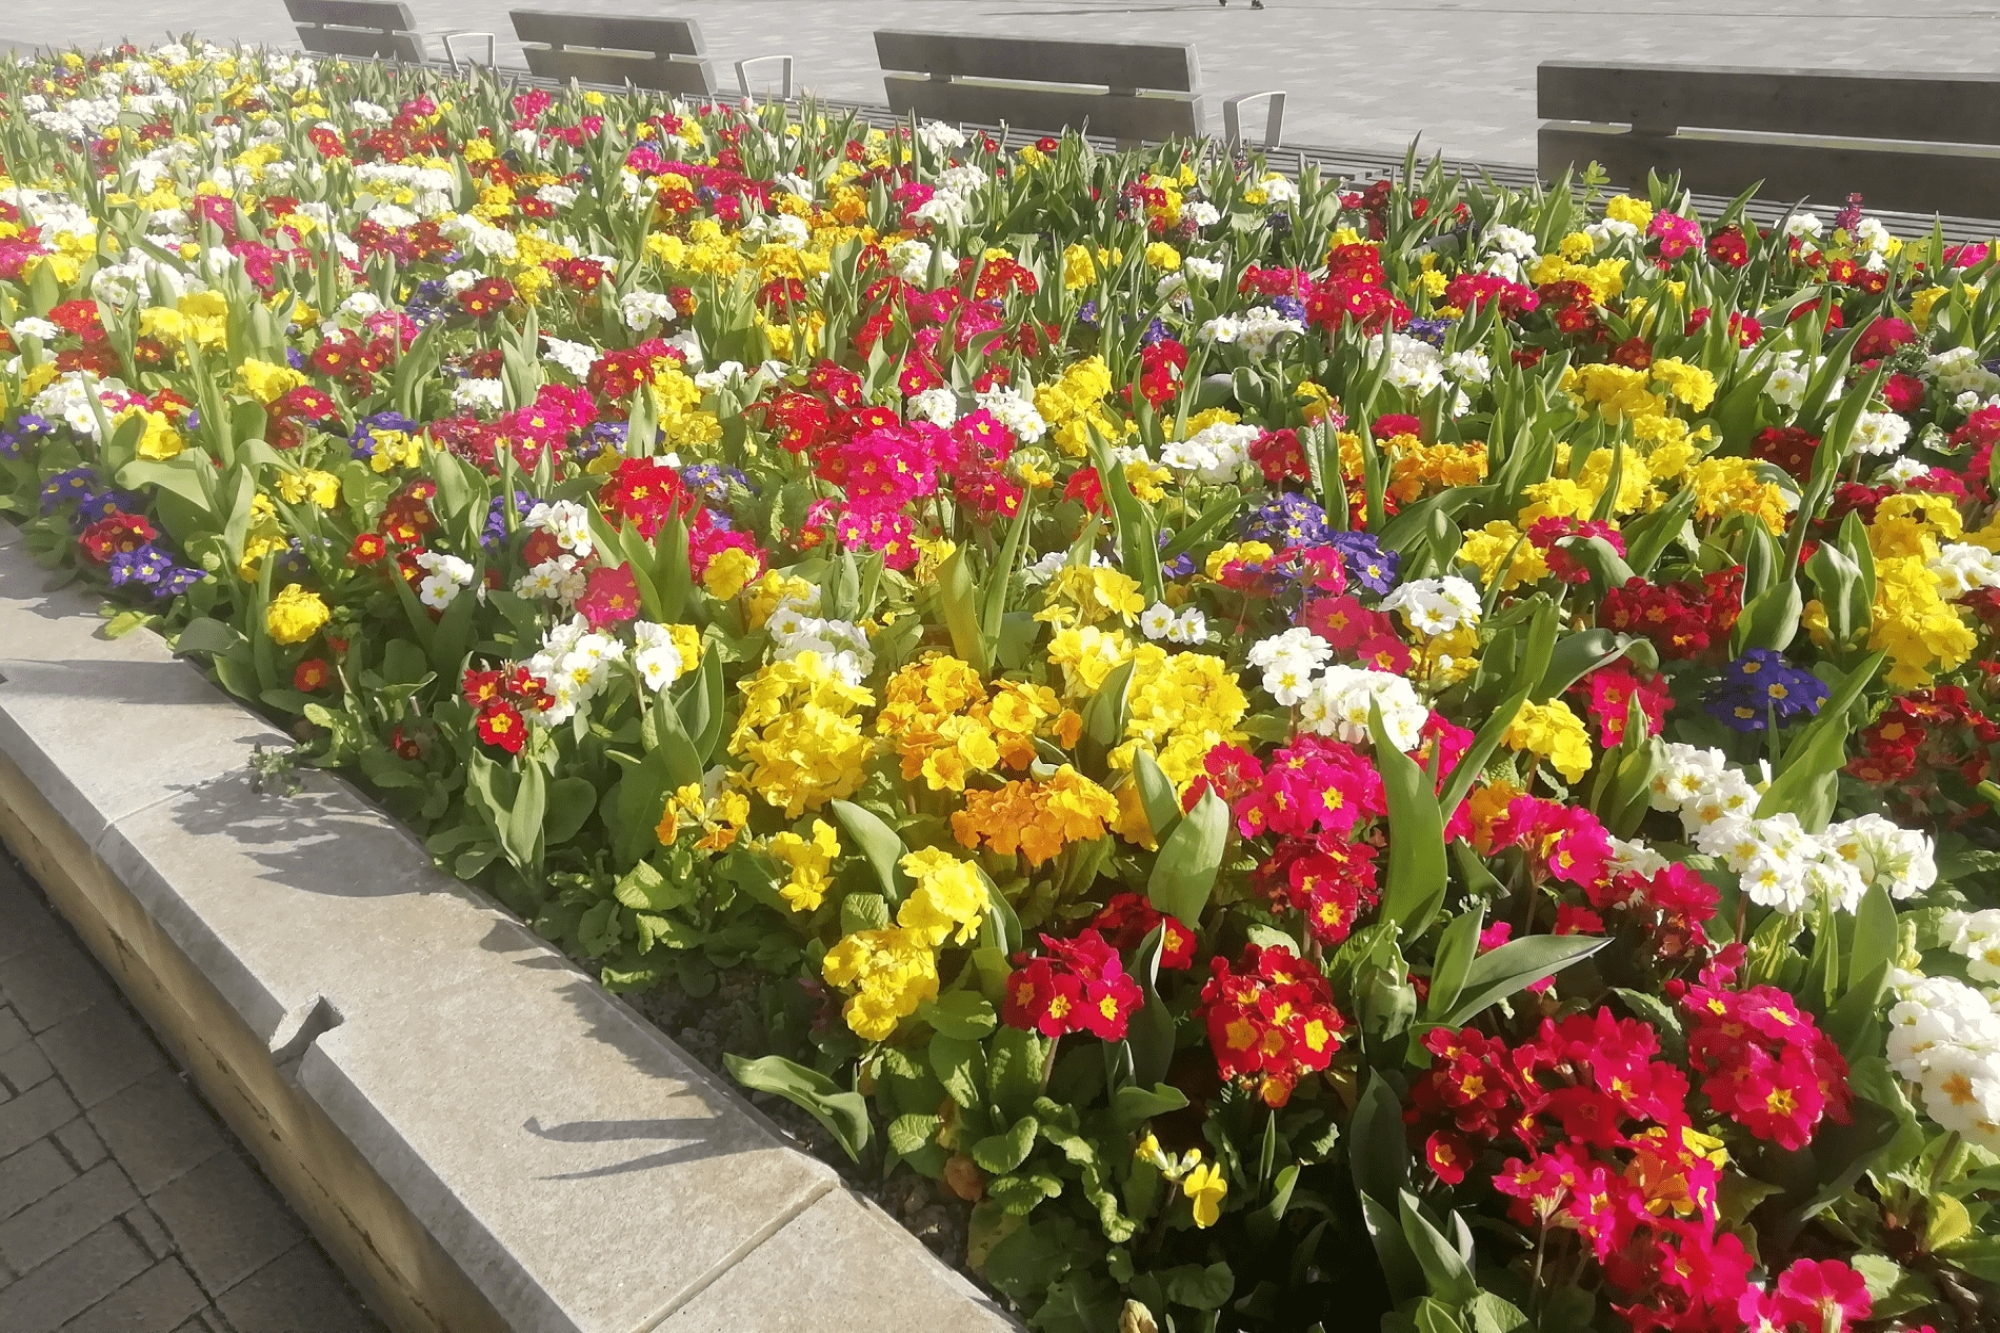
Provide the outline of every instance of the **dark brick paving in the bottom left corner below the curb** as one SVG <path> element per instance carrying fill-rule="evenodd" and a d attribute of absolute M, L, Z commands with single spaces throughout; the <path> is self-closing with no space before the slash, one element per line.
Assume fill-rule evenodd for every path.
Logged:
<path fill-rule="evenodd" d="M 0 851 L 0 1329 L 380 1327 Z"/>

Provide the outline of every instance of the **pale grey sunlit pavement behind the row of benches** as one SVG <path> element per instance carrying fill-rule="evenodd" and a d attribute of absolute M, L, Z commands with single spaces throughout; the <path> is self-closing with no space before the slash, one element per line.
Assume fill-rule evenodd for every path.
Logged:
<path fill-rule="evenodd" d="M 408 0 L 422 30 L 494 30 L 520 66 L 500 0 Z M 1402 152 L 1424 146 L 1490 162 L 1534 162 L 1534 66 L 1542 60 L 1868 70 L 2000 70 L 1994 0 L 532 0 L 570 12 L 696 18 L 730 64 L 798 58 L 802 86 L 880 102 L 876 28 L 1194 42 L 1212 94 L 1284 88 L 1286 140 Z M 212 40 L 296 44 L 282 0 L 12 0 L 6 36 L 100 44 Z"/>

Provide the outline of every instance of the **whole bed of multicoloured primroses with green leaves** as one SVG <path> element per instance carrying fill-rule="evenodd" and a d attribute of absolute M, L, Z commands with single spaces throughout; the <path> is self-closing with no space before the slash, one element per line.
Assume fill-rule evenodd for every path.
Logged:
<path fill-rule="evenodd" d="M 28 544 L 1034 1327 L 2000 1317 L 1986 246 L 0 84 Z"/>

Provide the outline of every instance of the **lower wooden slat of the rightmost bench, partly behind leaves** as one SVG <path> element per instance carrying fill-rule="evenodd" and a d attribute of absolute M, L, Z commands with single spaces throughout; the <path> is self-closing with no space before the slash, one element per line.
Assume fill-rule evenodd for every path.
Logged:
<path fill-rule="evenodd" d="M 1702 194 L 1736 196 L 1758 180 L 1766 200 L 1838 204 L 1860 192 L 1870 208 L 2000 218 L 2000 152 L 1806 144 L 1758 138 L 1630 134 L 1608 126 L 1544 124 L 1536 138 L 1544 178 L 1586 162 L 1612 182 L 1644 192 L 1646 172 L 1678 170 Z"/>

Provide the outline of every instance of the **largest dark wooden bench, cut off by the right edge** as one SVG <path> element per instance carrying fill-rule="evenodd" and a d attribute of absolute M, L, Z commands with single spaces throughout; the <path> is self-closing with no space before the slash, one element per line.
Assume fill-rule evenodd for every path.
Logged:
<path fill-rule="evenodd" d="M 1552 60 L 1536 72 L 1536 106 L 1550 180 L 1598 162 L 1628 190 L 1648 170 L 1678 170 L 1704 194 L 1764 182 L 1786 202 L 1858 192 L 1876 208 L 2000 216 L 1994 74 Z"/>

